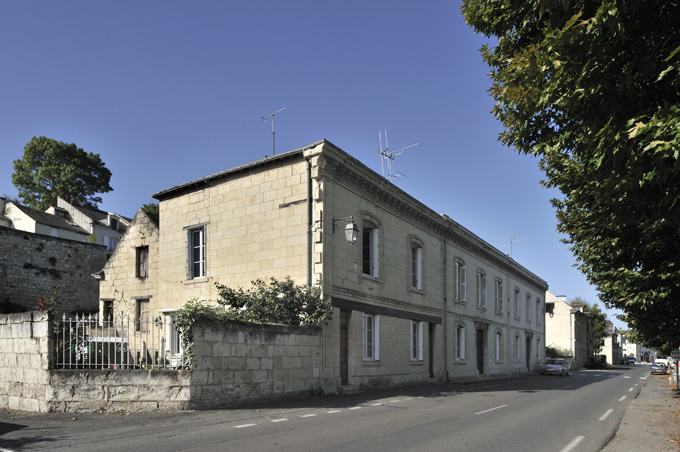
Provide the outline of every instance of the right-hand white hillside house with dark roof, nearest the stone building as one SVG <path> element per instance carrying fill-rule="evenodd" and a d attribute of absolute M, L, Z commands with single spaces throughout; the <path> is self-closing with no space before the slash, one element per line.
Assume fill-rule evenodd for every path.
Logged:
<path fill-rule="evenodd" d="M 74 206 L 60 197 L 57 198 L 57 206 L 50 207 L 47 212 L 78 225 L 87 231 L 93 243 L 104 245 L 109 251 L 116 249 L 131 221 L 115 212 Z"/>

